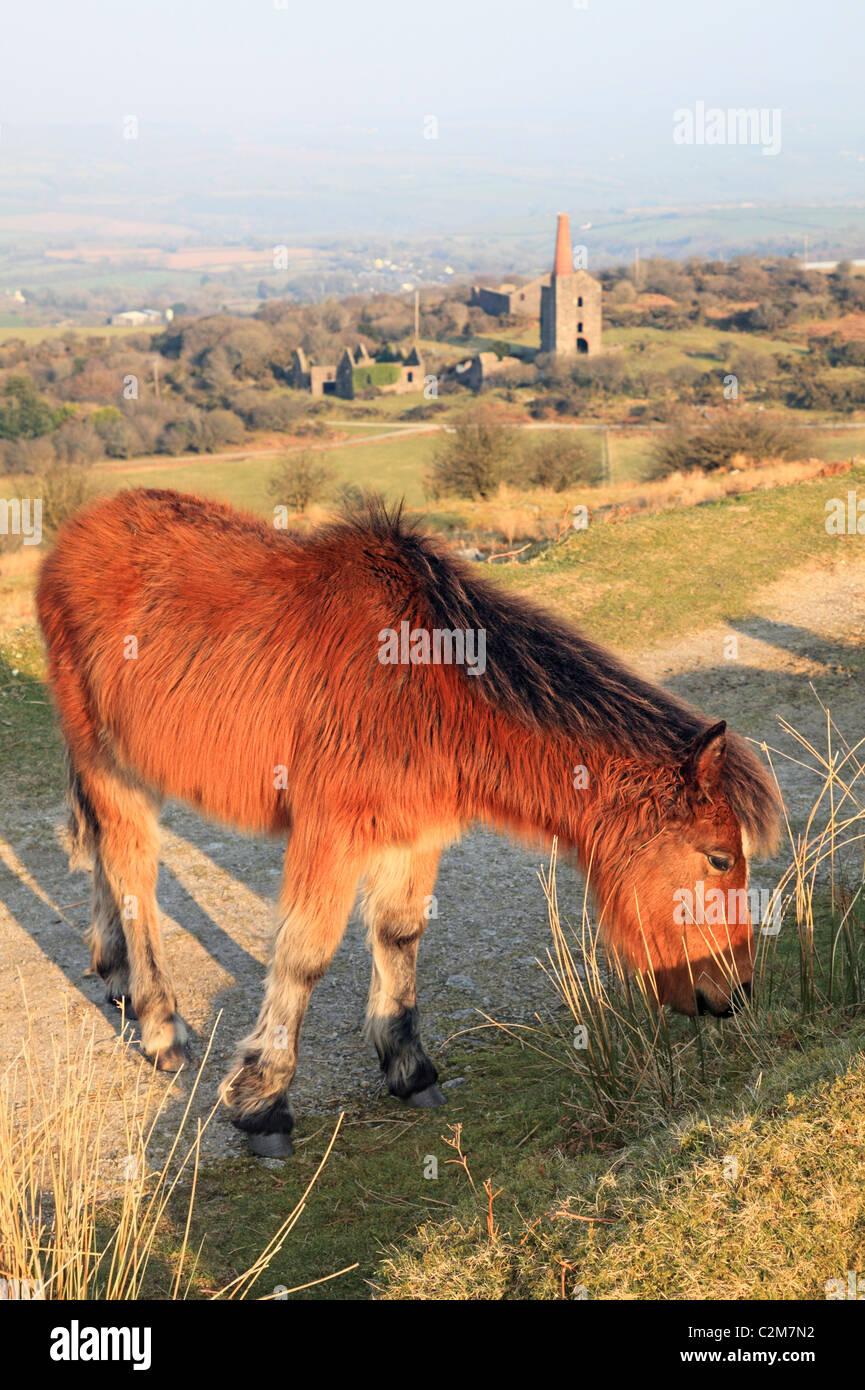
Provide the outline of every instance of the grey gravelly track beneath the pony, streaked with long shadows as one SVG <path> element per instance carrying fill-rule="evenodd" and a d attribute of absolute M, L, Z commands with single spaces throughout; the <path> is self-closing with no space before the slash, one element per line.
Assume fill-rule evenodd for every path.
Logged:
<path fill-rule="evenodd" d="M 725 655 L 725 639 L 733 634 L 737 659 Z M 801 571 L 766 587 L 754 616 L 736 628 L 701 631 L 631 653 L 631 660 L 708 714 L 759 741 L 791 746 L 777 714 L 814 737 L 825 726 L 811 681 L 851 742 L 865 733 L 855 670 L 864 649 L 865 560 L 839 560 L 833 569 Z M 777 767 L 798 819 L 816 778 L 782 760 Z M 6 788 L 0 791 L 0 1055 L 7 1059 L 22 1036 L 21 981 L 39 1017 L 38 1045 L 46 1049 L 64 1033 L 67 1006 L 74 1019 L 95 1019 L 106 1041 L 118 1026 L 117 1012 L 102 1002 L 102 983 L 85 973 L 81 933 L 89 880 L 68 873 L 64 821 L 58 794 L 33 816 Z M 163 824 L 159 897 L 167 951 L 199 1055 L 223 1011 L 196 1102 L 206 1113 L 234 1044 L 259 1008 L 281 848 L 204 824 L 178 806 L 167 809 Z M 445 1040 L 480 1023 L 478 1008 L 508 1022 L 552 1004 L 551 986 L 535 963 L 547 948 L 540 862 L 538 853 L 483 833 L 469 835 L 442 860 L 438 919 L 421 947 L 419 987 L 424 1038 L 445 1083 L 458 1081 Z M 758 867 L 754 881 L 768 885 L 770 870 Z M 559 898 L 577 917 L 581 890 L 567 872 L 559 876 Z M 300 1129 L 312 1112 L 362 1109 L 380 1090 L 374 1058 L 360 1037 L 369 970 L 363 929 L 353 919 L 307 1015 L 293 1088 Z M 184 1073 L 181 1094 L 188 1084 Z M 220 1115 L 204 1148 L 223 1156 L 239 1152 L 242 1143 Z"/>

